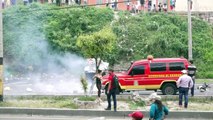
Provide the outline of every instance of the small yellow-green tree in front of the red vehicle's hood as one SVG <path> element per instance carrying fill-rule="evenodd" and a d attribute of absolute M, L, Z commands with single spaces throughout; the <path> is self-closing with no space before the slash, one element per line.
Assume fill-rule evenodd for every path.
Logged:
<path fill-rule="evenodd" d="M 115 42 L 116 35 L 110 27 L 105 27 L 99 32 L 79 36 L 77 46 L 85 57 L 95 58 L 96 70 L 98 70 L 101 60 L 107 59 L 107 56 L 112 53 Z"/>

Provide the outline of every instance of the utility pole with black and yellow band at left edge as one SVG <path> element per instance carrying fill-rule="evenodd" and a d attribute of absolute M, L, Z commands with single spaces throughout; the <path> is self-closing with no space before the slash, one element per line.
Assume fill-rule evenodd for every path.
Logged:
<path fill-rule="evenodd" d="M 0 101 L 3 101 L 3 15 L 2 0 L 0 0 Z"/>

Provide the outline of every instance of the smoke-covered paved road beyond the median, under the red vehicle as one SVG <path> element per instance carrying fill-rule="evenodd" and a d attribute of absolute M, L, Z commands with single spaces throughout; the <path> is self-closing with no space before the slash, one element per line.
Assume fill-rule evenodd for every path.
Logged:
<path fill-rule="evenodd" d="M 209 88 L 206 92 L 200 92 L 197 89 L 197 86 L 201 84 L 196 84 L 195 87 L 195 95 L 199 96 L 212 96 L 213 95 L 213 87 Z M 42 86 L 42 87 L 41 87 Z M 4 84 L 4 95 L 79 95 L 83 94 L 82 87 L 79 85 L 79 90 L 74 90 L 72 85 L 69 85 L 67 89 L 66 87 L 52 85 L 52 84 L 34 84 L 27 81 L 19 81 L 19 82 L 10 82 Z M 96 87 L 94 87 L 96 91 Z M 149 95 L 153 91 L 140 91 L 141 95 Z M 96 95 L 96 93 L 94 93 Z M 128 92 L 123 93 L 129 94 Z M 159 95 L 162 95 L 161 91 L 158 91 Z"/>

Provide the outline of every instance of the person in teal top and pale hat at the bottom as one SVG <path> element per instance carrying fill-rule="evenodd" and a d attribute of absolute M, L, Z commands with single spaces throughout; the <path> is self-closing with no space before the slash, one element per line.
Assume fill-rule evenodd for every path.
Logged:
<path fill-rule="evenodd" d="M 169 114 L 169 110 L 161 102 L 161 96 L 157 93 L 152 93 L 149 96 L 149 100 L 152 102 L 149 113 L 149 120 L 164 120 Z"/>

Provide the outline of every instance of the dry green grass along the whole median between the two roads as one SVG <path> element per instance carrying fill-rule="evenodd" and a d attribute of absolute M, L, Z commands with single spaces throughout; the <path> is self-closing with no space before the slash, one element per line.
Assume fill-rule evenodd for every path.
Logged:
<path fill-rule="evenodd" d="M 82 96 L 77 97 L 81 101 L 93 101 L 95 97 Z M 61 108 L 78 109 L 79 106 L 73 102 L 74 97 L 18 97 L 15 99 L 6 99 L 0 102 L 0 107 L 26 107 L 26 108 Z M 149 105 L 144 101 L 133 102 L 131 99 L 125 100 L 130 110 L 144 109 L 148 110 Z M 180 110 L 178 106 L 178 96 L 165 97 L 163 104 L 171 110 Z M 119 105 L 119 101 L 118 101 Z M 189 97 L 189 110 L 195 111 L 213 111 L 213 97 Z"/>

